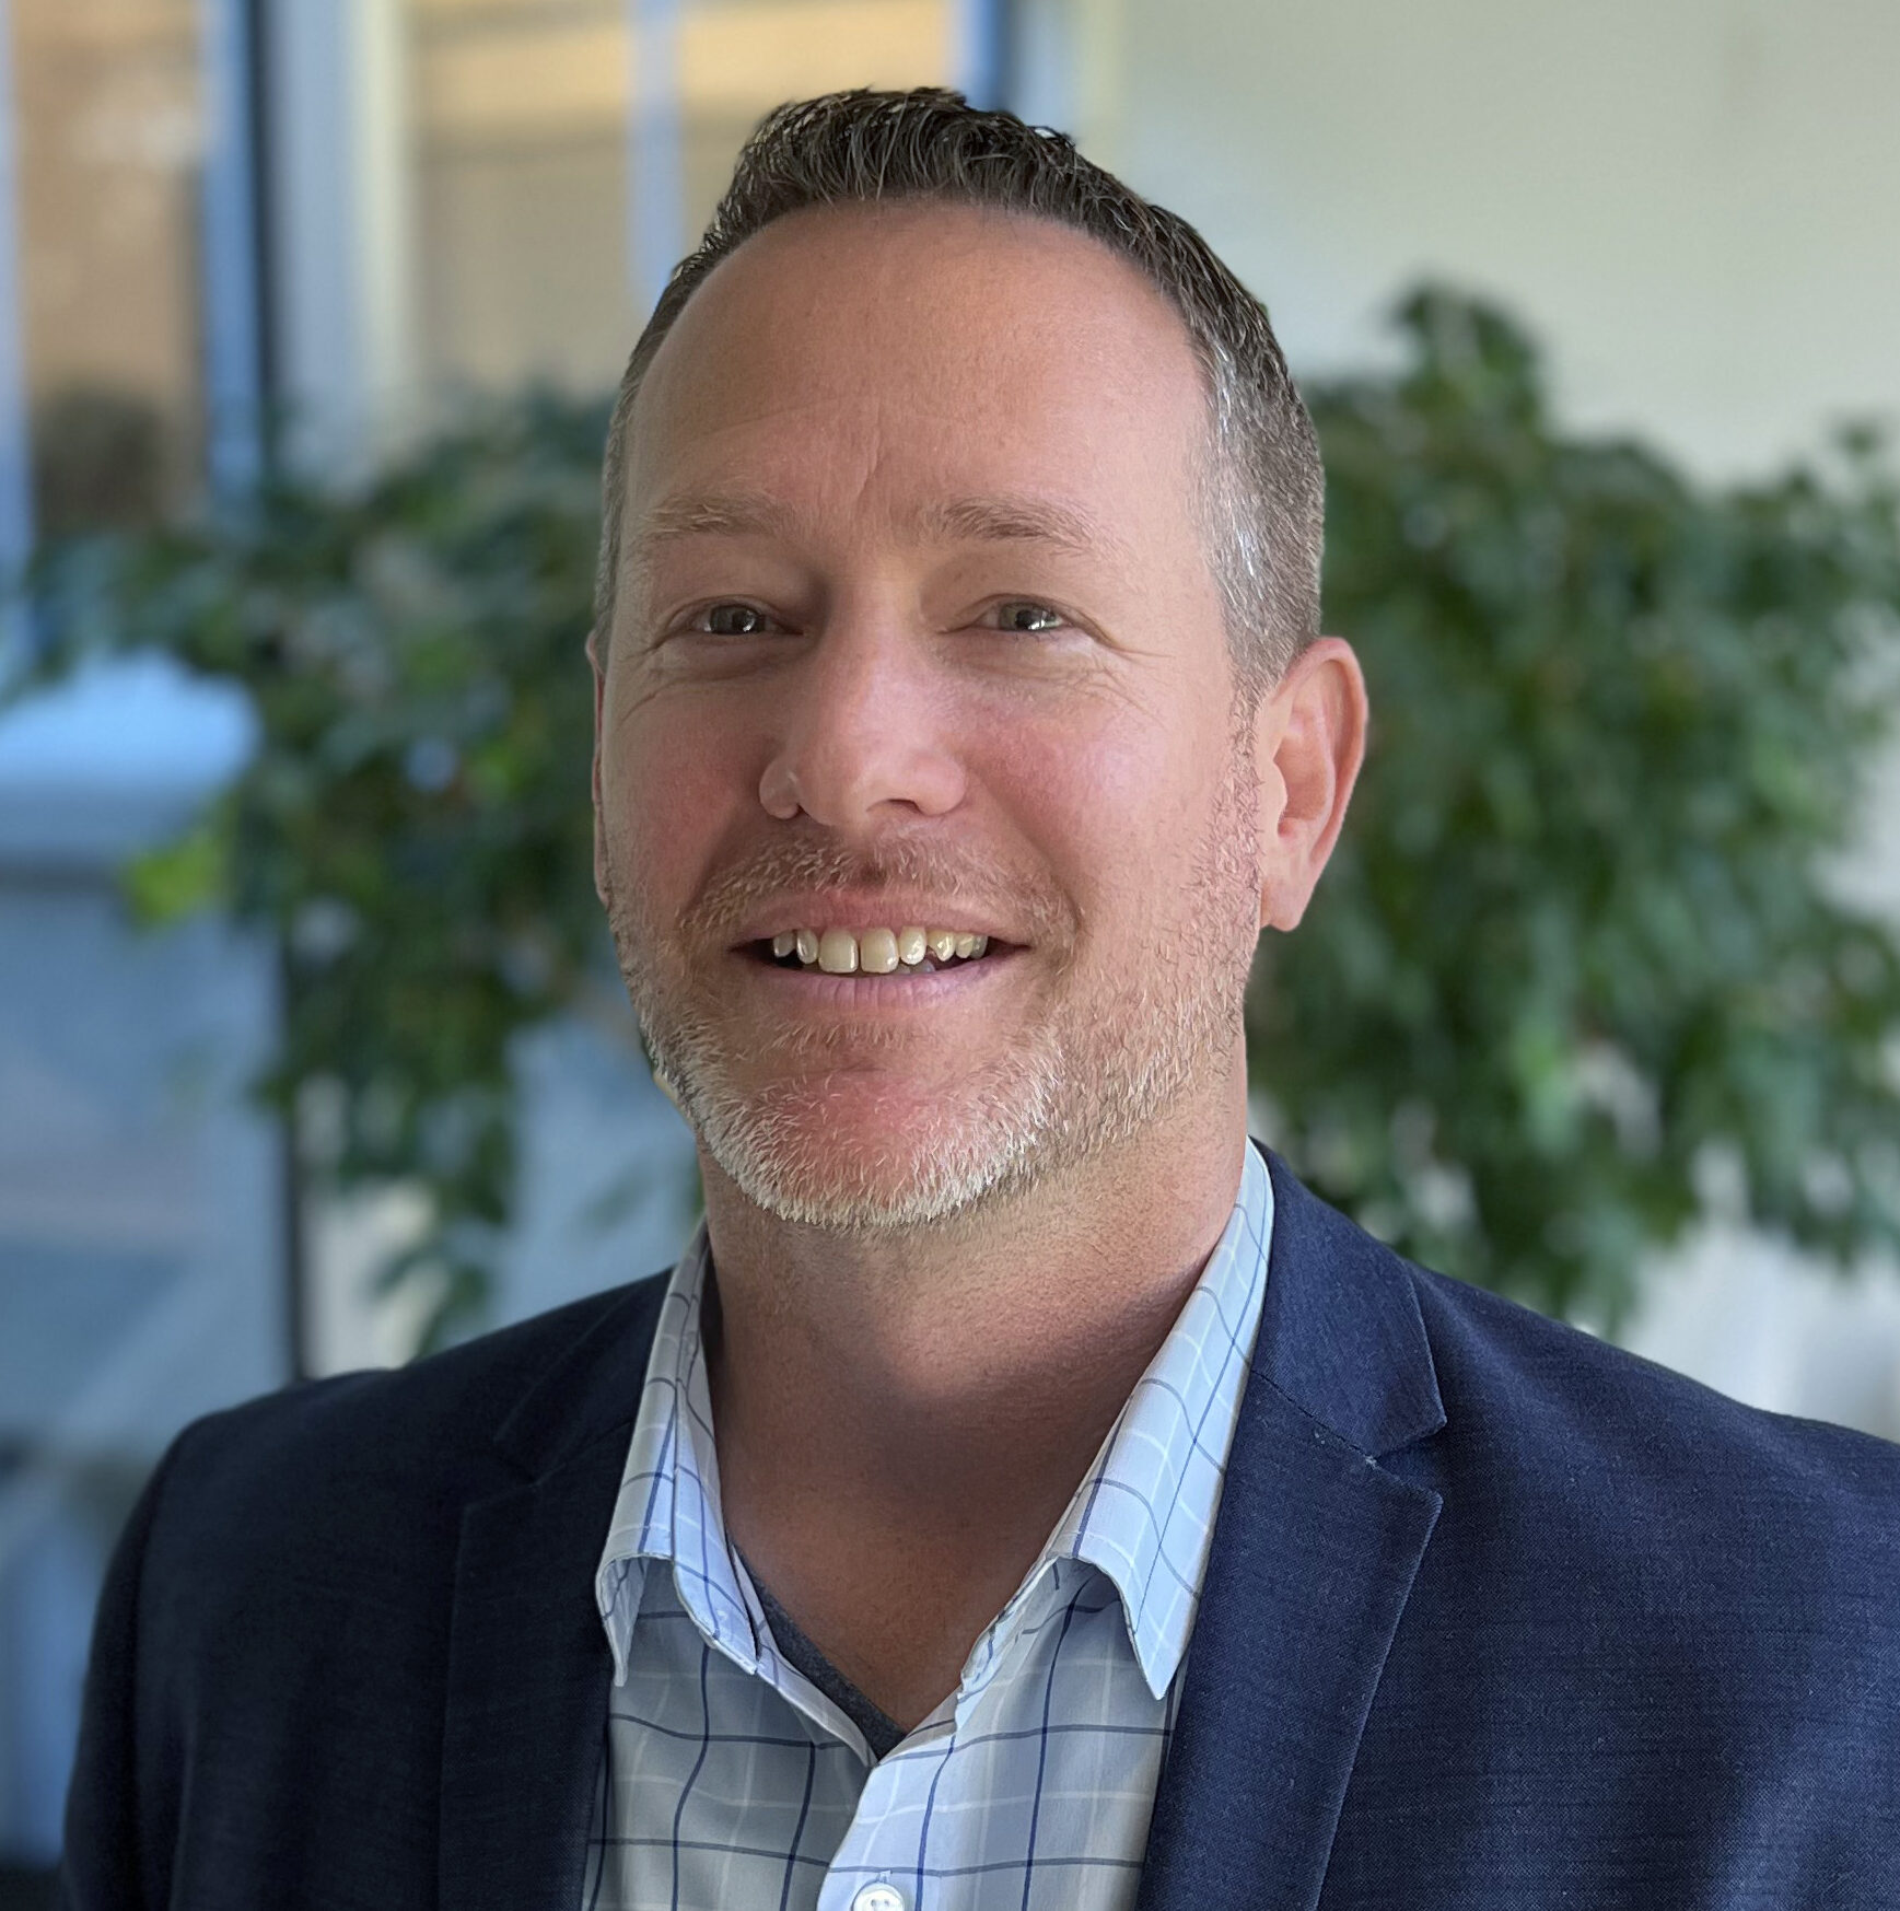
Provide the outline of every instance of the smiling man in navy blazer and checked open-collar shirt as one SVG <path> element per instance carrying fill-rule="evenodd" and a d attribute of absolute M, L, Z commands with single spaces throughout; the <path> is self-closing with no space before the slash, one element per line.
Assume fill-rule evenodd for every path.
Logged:
<path fill-rule="evenodd" d="M 180 1439 L 69 1900 L 1900 1905 L 1900 1452 L 1248 1145 L 1367 703 L 1198 237 L 954 96 L 788 107 L 606 493 L 598 885 L 705 1229 Z"/>

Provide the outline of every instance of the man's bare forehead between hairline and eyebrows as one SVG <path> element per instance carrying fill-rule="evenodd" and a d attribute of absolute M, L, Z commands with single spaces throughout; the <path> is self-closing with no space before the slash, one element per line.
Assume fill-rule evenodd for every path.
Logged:
<path fill-rule="evenodd" d="M 734 478 L 822 505 L 1061 480 L 1183 516 L 1202 375 L 1134 266 L 1047 220 L 791 214 L 692 296 L 633 413 L 629 495 Z"/>

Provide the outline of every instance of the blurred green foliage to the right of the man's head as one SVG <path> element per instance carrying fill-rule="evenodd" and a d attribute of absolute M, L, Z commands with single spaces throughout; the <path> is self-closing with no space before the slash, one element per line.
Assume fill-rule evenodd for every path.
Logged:
<path fill-rule="evenodd" d="M 1401 325 L 1395 376 L 1315 403 L 1374 730 L 1252 994 L 1283 1145 L 1418 1259 L 1604 1324 L 1711 1170 L 1837 1261 L 1892 1246 L 1900 948 L 1829 883 L 1894 736 L 1875 443 L 1697 487 L 1560 432 L 1497 311 Z"/>

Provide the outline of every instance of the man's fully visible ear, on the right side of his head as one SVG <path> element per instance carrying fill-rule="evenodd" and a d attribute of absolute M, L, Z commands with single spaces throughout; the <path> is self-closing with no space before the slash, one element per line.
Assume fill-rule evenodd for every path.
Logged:
<path fill-rule="evenodd" d="M 1260 927 L 1296 929 L 1365 761 L 1365 673 L 1342 636 L 1309 644 L 1254 713 Z"/>

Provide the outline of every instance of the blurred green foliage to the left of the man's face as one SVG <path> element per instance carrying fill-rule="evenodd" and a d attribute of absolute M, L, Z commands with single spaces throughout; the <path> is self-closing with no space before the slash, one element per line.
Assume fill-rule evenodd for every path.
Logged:
<path fill-rule="evenodd" d="M 514 1038 L 581 1011 L 637 1043 L 593 889 L 583 657 L 606 405 L 501 407 L 338 493 L 48 550 L 38 675 L 159 650 L 243 686 L 248 768 L 126 871 L 283 950 L 262 1091 L 313 1179 L 403 1185 L 430 1223 L 382 1273 L 482 1315 L 514 1200 Z"/>

